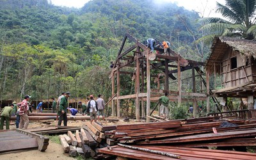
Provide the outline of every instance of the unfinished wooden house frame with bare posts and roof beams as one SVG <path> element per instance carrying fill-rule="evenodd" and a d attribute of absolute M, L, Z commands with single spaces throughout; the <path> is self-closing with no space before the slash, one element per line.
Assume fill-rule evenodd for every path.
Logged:
<path fill-rule="evenodd" d="M 159 42 L 157 42 L 159 43 Z M 126 49 L 126 50 L 125 50 Z M 207 95 L 205 93 L 195 93 L 195 70 L 200 70 L 200 66 L 204 65 L 202 62 L 185 60 L 179 54 L 175 53 L 171 49 L 169 52 L 172 56 L 163 55 L 163 49 L 154 48 L 159 54 L 150 52 L 150 49 L 143 45 L 136 38 L 132 37 L 128 33 L 125 34 L 124 40 L 118 51 L 118 56 L 114 63 L 111 80 L 112 80 L 112 116 L 120 117 L 120 100 L 122 99 L 135 99 L 136 100 L 136 120 L 142 117 L 149 116 L 150 114 L 150 102 L 157 101 L 163 93 L 169 93 L 169 99 L 171 101 L 177 101 L 178 104 L 182 101 L 205 100 Z M 177 63 L 173 65 L 170 63 Z M 127 71 L 125 68 L 133 68 L 134 72 Z M 175 68 L 169 70 L 169 68 Z M 193 77 L 193 93 L 182 92 L 182 79 L 181 72 L 184 70 L 192 70 Z M 130 69 L 131 70 L 131 69 Z M 161 70 L 161 74 L 154 74 L 151 70 Z M 130 74 L 131 79 L 135 81 L 135 93 L 131 95 L 120 95 L 120 74 Z M 177 74 L 177 78 L 173 76 Z M 159 77 L 164 75 L 164 90 L 160 90 Z M 145 78 L 146 76 L 146 78 Z M 151 86 L 152 77 L 157 81 L 157 89 L 153 89 Z M 173 80 L 177 80 L 177 91 L 169 90 L 169 77 Z M 146 85 L 144 81 L 146 80 Z M 116 88 L 115 88 L 116 85 Z M 163 85 L 162 85 L 163 86 Z M 116 90 L 115 90 L 116 89 Z M 192 98 L 186 98 L 192 97 Z M 116 107 L 115 107 L 116 102 Z M 141 103 L 140 103 L 141 102 Z M 146 102 L 146 115 L 145 105 Z M 141 111 L 140 111 L 141 104 Z M 195 106 L 195 103 L 194 103 Z M 140 114 L 141 113 L 141 114 Z M 149 118 L 147 117 L 147 122 Z"/>

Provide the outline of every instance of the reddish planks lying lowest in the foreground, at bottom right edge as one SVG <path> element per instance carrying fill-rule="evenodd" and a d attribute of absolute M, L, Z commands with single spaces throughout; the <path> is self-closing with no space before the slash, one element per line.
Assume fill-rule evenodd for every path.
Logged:
<path fill-rule="evenodd" d="M 120 147 L 100 148 L 99 152 L 132 159 L 256 159 L 256 154 L 236 151 L 209 150 L 202 148 L 186 148 L 172 146 L 132 146 L 157 151 L 157 154 Z M 166 155 L 166 156 L 163 156 Z M 173 157 L 172 157 L 173 156 Z"/>

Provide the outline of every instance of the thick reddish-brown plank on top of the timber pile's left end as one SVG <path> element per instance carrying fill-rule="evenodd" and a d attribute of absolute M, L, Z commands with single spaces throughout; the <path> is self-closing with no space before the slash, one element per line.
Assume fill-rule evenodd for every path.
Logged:
<path fill-rule="evenodd" d="M 124 130 L 124 129 L 148 129 L 148 128 L 176 128 L 180 127 L 180 121 L 177 122 L 154 122 L 154 123 L 144 123 L 144 124 L 133 124 L 133 125 L 117 125 L 117 130 Z"/>

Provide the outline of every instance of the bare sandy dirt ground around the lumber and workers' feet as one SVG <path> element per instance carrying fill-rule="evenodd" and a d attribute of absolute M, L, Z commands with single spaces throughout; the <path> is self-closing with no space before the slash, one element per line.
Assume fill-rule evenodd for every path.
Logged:
<path fill-rule="evenodd" d="M 135 122 L 135 120 L 130 120 L 130 122 L 124 122 L 122 119 L 119 120 L 119 122 L 103 122 L 100 121 L 102 125 L 121 125 L 121 124 L 135 124 L 139 122 Z M 141 123 L 141 122 L 140 122 Z M 57 125 L 56 120 L 44 120 L 42 122 L 29 122 L 28 129 L 32 128 L 44 128 L 44 127 L 52 127 Z M 68 126 L 78 126 L 82 127 L 84 125 L 84 121 L 81 120 L 69 120 Z M 5 126 L 4 126 L 5 127 Z M 5 129 L 5 128 L 4 128 Z M 15 129 L 15 122 L 11 122 L 10 129 Z M 1 142 L 0 142 L 1 144 Z M 22 150 L 17 152 L 8 152 L 4 154 L 0 154 L 1 160 L 14 160 L 14 159 L 20 159 L 20 160 L 62 160 L 62 159 L 75 159 L 74 157 L 69 157 L 68 154 L 64 154 L 63 149 L 61 148 L 60 144 L 54 143 L 53 141 L 49 141 L 49 145 L 47 147 L 47 150 L 45 152 L 40 152 L 39 150 Z"/>

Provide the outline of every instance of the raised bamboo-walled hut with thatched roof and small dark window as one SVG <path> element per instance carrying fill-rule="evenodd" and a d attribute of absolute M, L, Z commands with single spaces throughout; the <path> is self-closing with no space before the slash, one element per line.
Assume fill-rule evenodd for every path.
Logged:
<path fill-rule="evenodd" d="M 256 42 L 239 38 L 214 38 L 211 55 L 205 64 L 207 88 L 209 76 L 221 76 L 221 89 L 212 90 L 216 97 L 246 97 L 252 109 L 256 90 Z M 214 88 L 216 89 L 216 88 Z M 227 101 L 226 101 L 227 102 Z"/>

